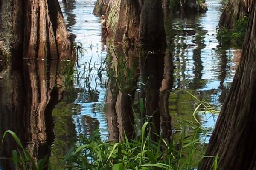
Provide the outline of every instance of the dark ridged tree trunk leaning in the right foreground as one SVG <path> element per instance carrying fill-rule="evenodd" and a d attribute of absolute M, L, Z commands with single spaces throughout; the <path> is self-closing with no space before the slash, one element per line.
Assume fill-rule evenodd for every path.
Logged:
<path fill-rule="evenodd" d="M 255 21 L 253 1 L 241 61 L 206 152 L 206 156 L 218 155 L 218 170 L 256 169 Z M 204 158 L 200 170 L 212 169 L 213 163 L 214 158 Z"/>

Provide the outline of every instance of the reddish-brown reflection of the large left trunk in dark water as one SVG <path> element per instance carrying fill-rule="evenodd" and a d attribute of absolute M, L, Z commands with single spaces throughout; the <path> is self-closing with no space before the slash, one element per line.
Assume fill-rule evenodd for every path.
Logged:
<path fill-rule="evenodd" d="M 52 109 L 62 98 L 64 83 L 58 78 L 55 60 L 25 61 L 7 66 L 0 73 L 0 134 L 14 131 L 37 162 L 49 155 L 53 142 Z M 2 137 L 2 136 L 1 136 Z M 1 157 L 12 157 L 17 144 L 12 137 L 4 140 Z M 6 159 L 1 159 L 3 169 L 14 169 Z"/>

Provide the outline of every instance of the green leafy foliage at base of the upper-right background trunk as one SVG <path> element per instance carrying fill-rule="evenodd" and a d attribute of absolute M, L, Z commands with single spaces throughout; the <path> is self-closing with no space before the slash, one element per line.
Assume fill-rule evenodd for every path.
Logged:
<path fill-rule="evenodd" d="M 232 29 L 221 27 L 218 29 L 217 39 L 222 46 L 233 46 L 241 48 L 244 42 L 245 31 L 248 23 L 248 17 L 236 21 Z"/>

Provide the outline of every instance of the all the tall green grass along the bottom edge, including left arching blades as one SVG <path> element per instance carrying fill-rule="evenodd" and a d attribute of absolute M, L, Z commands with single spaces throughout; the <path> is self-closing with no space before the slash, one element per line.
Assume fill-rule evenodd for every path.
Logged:
<path fill-rule="evenodd" d="M 192 94 L 191 94 L 192 95 Z M 192 95 L 193 96 L 193 95 Z M 195 96 L 194 96 L 195 97 Z M 214 112 L 207 102 L 199 101 L 207 111 Z M 196 111 L 201 107 L 196 107 Z M 193 113 L 195 114 L 195 113 Z M 180 132 L 180 140 L 175 141 L 173 134 L 167 142 L 161 135 L 155 141 L 151 138 L 154 133 L 154 124 L 145 122 L 140 133 L 134 139 L 125 139 L 121 143 L 103 141 L 99 130 L 90 136 L 79 136 L 75 147 L 70 148 L 64 157 L 56 157 L 59 167 L 66 170 L 192 170 L 196 169 L 204 157 L 205 144 L 199 134 L 206 134 L 207 129 L 200 125 L 199 120 L 186 121 L 193 131 L 187 133 L 185 129 Z M 22 170 L 55 170 L 47 156 L 38 160 L 32 159 L 12 131 L 10 133 L 17 142 L 19 149 L 12 151 L 12 160 L 16 168 Z M 215 157 L 214 169 L 217 169 L 218 156 Z"/>

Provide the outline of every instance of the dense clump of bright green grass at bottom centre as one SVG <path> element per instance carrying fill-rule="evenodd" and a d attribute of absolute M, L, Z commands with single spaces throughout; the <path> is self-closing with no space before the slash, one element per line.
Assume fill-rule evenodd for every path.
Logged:
<path fill-rule="evenodd" d="M 140 135 L 129 140 L 125 136 L 122 143 L 102 142 L 99 132 L 91 136 L 80 136 L 79 145 L 71 148 L 64 160 L 64 167 L 70 170 L 190 170 L 198 163 L 201 144 L 196 132 L 190 139 L 182 133 L 180 145 L 166 142 L 161 136 L 158 141 L 151 140 L 151 122 L 143 124 Z M 153 128 L 152 128 L 153 129 Z M 177 142 L 177 141 L 176 141 Z M 187 155 L 184 158 L 184 155 Z"/>

